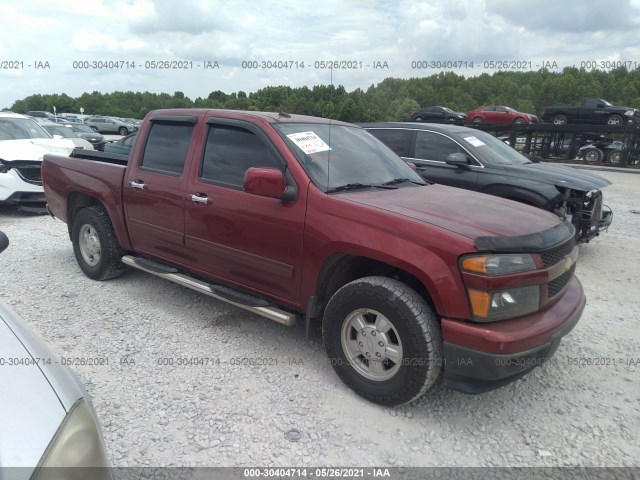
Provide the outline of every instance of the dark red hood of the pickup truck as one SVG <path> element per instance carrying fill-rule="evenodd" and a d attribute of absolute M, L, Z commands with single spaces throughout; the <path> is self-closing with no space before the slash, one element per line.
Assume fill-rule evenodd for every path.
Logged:
<path fill-rule="evenodd" d="M 562 223 L 556 215 L 529 205 L 444 185 L 351 192 L 340 196 L 473 240 L 483 236 L 539 233 Z"/>

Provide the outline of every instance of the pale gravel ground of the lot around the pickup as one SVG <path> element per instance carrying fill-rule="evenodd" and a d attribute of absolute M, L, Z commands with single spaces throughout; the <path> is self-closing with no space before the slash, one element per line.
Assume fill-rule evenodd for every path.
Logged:
<path fill-rule="evenodd" d="M 0 301 L 61 357 L 108 362 L 73 369 L 114 466 L 640 466 L 640 175 L 598 173 L 613 182 L 615 217 L 580 247 L 582 319 L 552 361 L 479 396 L 439 386 L 376 406 L 341 383 L 302 325 L 143 272 L 92 281 L 63 223 L 6 207 Z"/>

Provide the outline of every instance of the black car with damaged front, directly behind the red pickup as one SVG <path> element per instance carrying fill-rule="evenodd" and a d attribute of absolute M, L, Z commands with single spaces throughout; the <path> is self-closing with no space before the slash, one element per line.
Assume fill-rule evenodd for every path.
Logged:
<path fill-rule="evenodd" d="M 613 219 L 601 188 L 610 182 L 570 167 L 532 162 L 496 137 L 453 125 L 360 124 L 425 179 L 533 205 L 571 219 L 588 242 Z"/>

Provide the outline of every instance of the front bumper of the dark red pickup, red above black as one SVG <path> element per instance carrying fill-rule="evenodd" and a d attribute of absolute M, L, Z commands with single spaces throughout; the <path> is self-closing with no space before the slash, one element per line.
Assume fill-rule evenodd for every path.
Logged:
<path fill-rule="evenodd" d="M 532 315 L 488 324 L 443 319 L 443 383 L 475 394 L 526 375 L 553 356 L 585 303 L 582 285 L 573 277 L 557 303 Z"/>

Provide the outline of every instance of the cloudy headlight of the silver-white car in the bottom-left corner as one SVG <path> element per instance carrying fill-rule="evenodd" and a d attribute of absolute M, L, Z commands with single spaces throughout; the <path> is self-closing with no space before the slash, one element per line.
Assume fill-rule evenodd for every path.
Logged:
<path fill-rule="evenodd" d="M 76 468 L 83 467 L 83 468 Z M 110 480 L 107 454 L 89 405 L 78 400 L 62 421 L 36 469 L 34 480 Z"/>

